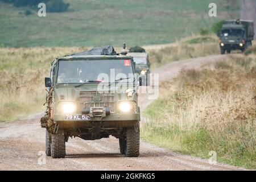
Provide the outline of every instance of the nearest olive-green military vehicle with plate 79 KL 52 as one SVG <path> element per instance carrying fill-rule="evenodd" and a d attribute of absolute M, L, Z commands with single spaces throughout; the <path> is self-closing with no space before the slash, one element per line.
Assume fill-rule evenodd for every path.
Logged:
<path fill-rule="evenodd" d="M 46 154 L 64 158 L 69 137 L 84 140 L 119 139 L 121 154 L 139 155 L 137 90 L 142 78 L 135 74 L 133 57 L 125 46 L 116 53 L 112 46 L 57 57 L 45 78 L 48 88 Z"/>

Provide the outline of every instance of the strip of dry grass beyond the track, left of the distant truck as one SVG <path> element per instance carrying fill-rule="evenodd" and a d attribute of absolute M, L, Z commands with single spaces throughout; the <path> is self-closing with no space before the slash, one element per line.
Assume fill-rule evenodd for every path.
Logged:
<path fill-rule="evenodd" d="M 218 38 L 214 35 L 193 35 L 173 44 L 147 46 L 151 68 L 155 69 L 172 61 L 220 54 Z"/>

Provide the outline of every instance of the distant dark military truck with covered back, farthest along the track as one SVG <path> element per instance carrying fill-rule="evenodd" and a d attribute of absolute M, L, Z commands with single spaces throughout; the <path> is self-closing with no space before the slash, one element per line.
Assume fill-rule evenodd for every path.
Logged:
<path fill-rule="evenodd" d="M 252 45 L 254 38 L 254 23 L 249 20 L 226 20 L 222 25 L 220 38 L 221 54 L 230 53 L 232 50 L 240 49 L 242 52 Z"/>

